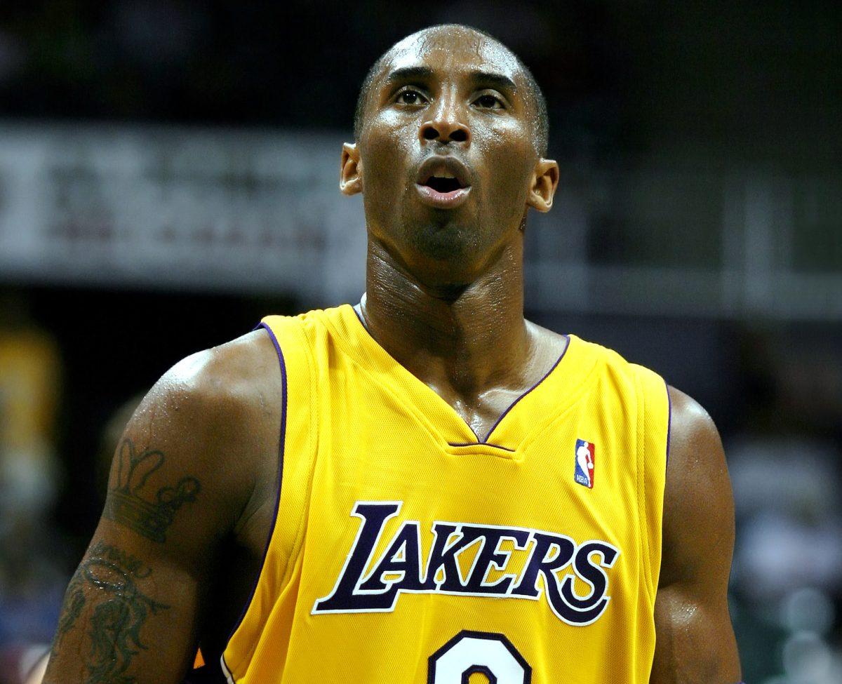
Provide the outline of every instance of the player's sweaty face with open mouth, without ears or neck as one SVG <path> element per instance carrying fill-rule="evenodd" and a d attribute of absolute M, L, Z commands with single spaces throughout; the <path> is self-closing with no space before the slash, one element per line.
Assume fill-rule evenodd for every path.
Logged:
<path fill-rule="evenodd" d="M 370 238 L 429 286 L 475 281 L 519 240 L 536 107 L 514 56 L 472 31 L 402 40 L 370 88 L 360 177 Z"/>

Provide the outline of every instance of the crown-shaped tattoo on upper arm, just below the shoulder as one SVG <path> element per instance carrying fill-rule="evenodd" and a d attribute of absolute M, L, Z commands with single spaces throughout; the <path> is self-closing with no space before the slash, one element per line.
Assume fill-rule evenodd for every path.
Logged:
<path fill-rule="evenodd" d="M 138 454 L 135 444 L 125 439 L 120 445 L 117 462 L 117 482 L 109 489 L 103 515 L 111 521 L 131 528 L 153 542 L 166 542 L 166 532 L 176 512 L 187 502 L 195 501 L 200 492 L 199 480 L 181 478 L 174 485 L 165 485 L 152 497 L 147 489 L 149 477 L 161 468 L 166 457 L 163 452 L 146 451 Z"/>

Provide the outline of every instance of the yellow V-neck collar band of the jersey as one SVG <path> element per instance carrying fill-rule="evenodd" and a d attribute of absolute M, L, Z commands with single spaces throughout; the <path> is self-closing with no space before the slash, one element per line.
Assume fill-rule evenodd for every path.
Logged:
<path fill-rule="evenodd" d="M 397 399 L 421 420 L 445 451 L 479 452 L 517 460 L 520 447 L 530 434 L 555 419 L 572 403 L 576 389 L 589 375 L 595 356 L 589 345 L 575 335 L 564 335 L 567 344 L 552 367 L 532 387 L 514 399 L 480 438 L 444 398 L 392 357 L 365 328 L 349 304 L 322 312 L 338 343 L 370 372 L 376 382 L 389 388 Z"/>

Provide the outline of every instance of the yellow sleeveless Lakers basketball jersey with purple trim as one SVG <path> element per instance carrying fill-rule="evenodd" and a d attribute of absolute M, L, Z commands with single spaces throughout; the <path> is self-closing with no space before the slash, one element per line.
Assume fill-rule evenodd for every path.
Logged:
<path fill-rule="evenodd" d="M 479 439 L 352 307 L 262 324 L 280 494 L 228 681 L 649 681 L 663 379 L 569 335 Z"/>

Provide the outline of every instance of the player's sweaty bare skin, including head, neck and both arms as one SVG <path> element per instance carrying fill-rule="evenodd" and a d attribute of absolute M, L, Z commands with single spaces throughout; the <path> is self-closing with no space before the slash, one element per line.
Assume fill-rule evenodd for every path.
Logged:
<path fill-rule="evenodd" d="M 557 163 L 536 145 L 536 117 L 504 45 L 436 27 L 381 61 L 359 139 L 342 151 L 340 190 L 364 198 L 365 325 L 479 436 L 566 344 L 523 316 L 527 211 L 549 211 L 558 183 Z M 424 163 L 445 158 L 470 186 L 452 208 L 418 187 Z M 697 403 L 673 388 L 670 397 L 651 682 L 734 684 L 733 500 L 722 445 Z M 176 684 L 197 645 L 223 648 L 269 534 L 280 406 L 277 357 L 262 330 L 190 356 L 157 382 L 115 454 L 45 681 Z M 143 513 L 150 505 L 152 516 Z"/>

